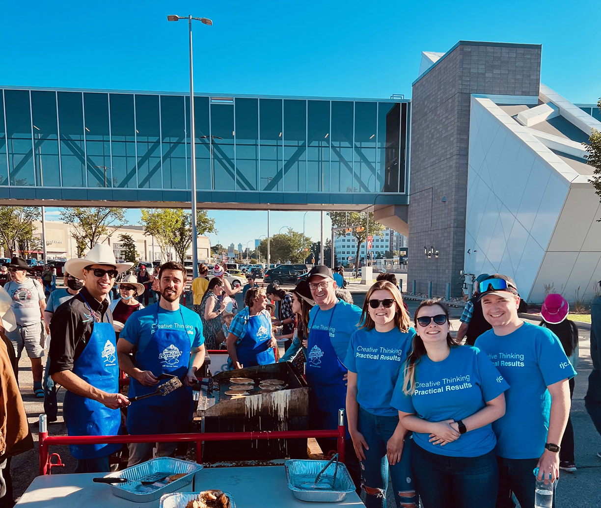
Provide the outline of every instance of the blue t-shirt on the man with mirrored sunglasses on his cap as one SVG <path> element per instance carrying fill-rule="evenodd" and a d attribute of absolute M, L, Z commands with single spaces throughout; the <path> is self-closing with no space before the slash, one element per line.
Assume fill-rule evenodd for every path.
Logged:
<path fill-rule="evenodd" d="M 576 375 L 560 340 L 548 328 L 525 322 L 504 336 L 485 331 L 476 345 L 511 386 L 505 393 L 505 415 L 493 422 L 497 455 L 506 459 L 540 457 L 549 431 L 551 395 L 547 387 Z"/>

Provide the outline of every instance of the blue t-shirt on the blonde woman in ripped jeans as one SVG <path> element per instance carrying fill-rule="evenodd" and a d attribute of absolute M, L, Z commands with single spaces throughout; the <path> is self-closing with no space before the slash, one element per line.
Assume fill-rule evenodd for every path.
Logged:
<path fill-rule="evenodd" d="M 350 336 L 344 364 L 357 373 L 357 402 L 371 414 L 397 416 L 390 405 L 399 371 L 411 351 L 415 330 L 379 332 L 360 328 Z"/>

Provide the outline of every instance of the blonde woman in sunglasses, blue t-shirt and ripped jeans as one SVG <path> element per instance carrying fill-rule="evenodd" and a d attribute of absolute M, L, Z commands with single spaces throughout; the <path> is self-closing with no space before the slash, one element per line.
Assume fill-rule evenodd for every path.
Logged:
<path fill-rule="evenodd" d="M 346 411 L 350 437 L 361 461 L 367 508 L 385 506 L 388 470 L 397 506 L 417 506 L 410 465 L 410 435 L 391 398 L 415 330 L 400 291 L 376 282 L 365 295 L 361 322 L 350 337 Z M 388 467 L 386 465 L 388 464 Z"/>

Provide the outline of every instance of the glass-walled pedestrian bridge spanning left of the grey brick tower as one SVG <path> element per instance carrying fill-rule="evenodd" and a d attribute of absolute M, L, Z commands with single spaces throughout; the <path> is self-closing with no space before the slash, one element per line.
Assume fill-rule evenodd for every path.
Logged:
<path fill-rule="evenodd" d="M 0 92 L 1 204 L 189 206 L 189 95 Z M 198 94 L 194 111 L 200 206 L 408 202 L 409 100 Z"/>

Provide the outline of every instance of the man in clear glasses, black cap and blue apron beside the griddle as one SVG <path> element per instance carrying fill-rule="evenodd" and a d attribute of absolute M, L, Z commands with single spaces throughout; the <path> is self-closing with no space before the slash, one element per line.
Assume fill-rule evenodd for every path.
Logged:
<path fill-rule="evenodd" d="M 338 410 L 346 405 L 347 369 L 343 362 L 350 336 L 361 320 L 361 309 L 338 299 L 336 281 L 328 267 L 311 268 L 307 282 L 317 304 L 309 313 L 307 342 L 309 425 L 313 429 L 335 429 Z M 335 440 L 318 442 L 324 453 L 336 449 Z M 350 435 L 346 441 L 346 466 L 355 486 L 361 488 L 359 461 Z"/>

